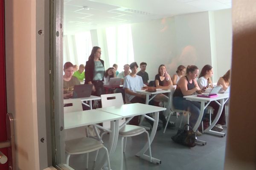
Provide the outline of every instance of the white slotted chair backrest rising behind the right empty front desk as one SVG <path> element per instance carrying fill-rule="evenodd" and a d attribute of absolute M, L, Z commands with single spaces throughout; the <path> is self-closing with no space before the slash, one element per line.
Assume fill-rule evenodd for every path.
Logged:
<path fill-rule="evenodd" d="M 101 100 L 102 108 L 106 108 L 109 106 L 119 106 L 124 104 L 121 93 L 102 94 Z"/>

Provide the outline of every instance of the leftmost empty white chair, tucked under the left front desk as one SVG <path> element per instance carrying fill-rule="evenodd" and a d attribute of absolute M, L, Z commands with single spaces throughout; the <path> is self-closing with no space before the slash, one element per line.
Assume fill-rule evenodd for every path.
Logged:
<path fill-rule="evenodd" d="M 71 106 L 64 107 L 64 114 L 68 114 L 69 112 L 75 111 L 82 111 L 82 103 L 80 99 L 66 99 L 64 100 L 64 104 L 71 103 Z M 84 130 L 84 132 L 81 132 Z M 79 132 L 80 131 L 80 132 Z M 88 158 L 89 153 L 96 151 L 96 157 L 94 161 L 96 161 L 99 149 L 104 148 L 107 155 L 108 160 L 108 168 L 110 168 L 110 161 L 108 156 L 108 149 L 96 139 L 88 138 L 85 133 L 84 127 L 77 127 L 72 129 L 65 130 L 65 150 L 67 153 L 67 165 L 69 165 L 70 155 L 82 154 L 87 153 L 87 160 L 86 160 L 86 169 L 88 169 Z M 70 137 L 72 136 L 72 137 Z"/>

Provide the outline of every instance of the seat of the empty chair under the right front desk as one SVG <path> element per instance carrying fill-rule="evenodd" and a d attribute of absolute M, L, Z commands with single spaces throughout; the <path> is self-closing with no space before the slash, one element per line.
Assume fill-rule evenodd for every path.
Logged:
<path fill-rule="evenodd" d="M 125 125 L 119 130 L 119 134 L 122 136 L 138 135 L 145 132 L 145 128 L 136 125 Z"/>

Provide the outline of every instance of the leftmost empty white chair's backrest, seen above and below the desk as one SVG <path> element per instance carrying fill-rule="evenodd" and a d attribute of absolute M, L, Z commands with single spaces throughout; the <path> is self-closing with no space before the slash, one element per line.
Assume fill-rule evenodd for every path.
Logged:
<path fill-rule="evenodd" d="M 68 106 L 65 106 L 69 104 Z M 69 112 L 83 111 L 81 99 L 64 99 L 64 114 Z M 65 140 L 78 139 L 86 137 L 85 127 L 76 127 L 72 129 L 65 129 Z"/>

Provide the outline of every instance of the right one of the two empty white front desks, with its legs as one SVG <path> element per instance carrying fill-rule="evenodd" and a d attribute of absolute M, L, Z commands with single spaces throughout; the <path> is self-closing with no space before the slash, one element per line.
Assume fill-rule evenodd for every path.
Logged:
<path fill-rule="evenodd" d="M 145 105 L 141 103 L 131 103 L 131 104 L 126 104 L 126 105 L 121 105 L 121 106 L 112 106 L 112 107 L 107 107 L 107 108 L 98 108 L 96 110 L 99 111 L 105 111 L 108 113 L 112 113 L 118 116 L 122 116 L 122 118 L 127 118 L 127 117 L 134 117 L 134 116 L 139 116 L 139 115 L 145 115 L 147 113 L 153 113 L 154 114 L 154 125 L 150 133 L 150 142 L 152 143 L 154 136 L 157 131 L 157 125 L 158 125 L 158 117 L 159 117 L 159 112 L 160 111 L 165 111 L 166 108 L 158 107 L 158 106 L 152 106 L 152 105 Z M 117 142 L 117 140 L 116 140 Z M 113 150 L 116 148 L 116 143 L 113 146 Z M 136 154 L 136 156 L 140 156 L 142 159 L 148 160 L 149 156 L 145 155 L 146 150 L 148 150 L 148 143 L 145 144 L 145 146 Z M 152 162 L 160 164 L 161 161 L 159 159 L 153 158 L 152 157 Z"/>

